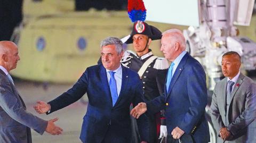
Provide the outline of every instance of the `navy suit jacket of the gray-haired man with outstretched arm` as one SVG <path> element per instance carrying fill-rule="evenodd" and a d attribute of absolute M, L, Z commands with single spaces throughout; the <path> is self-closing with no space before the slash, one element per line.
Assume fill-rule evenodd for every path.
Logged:
<path fill-rule="evenodd" d="M 122 86 L 115 106 L 112 106 L 106 69 L 102 64 L 86 69 L 82 77 L 67 92 L 49 102 L 51 112 L 66 107 L 85 92 L 89 99 L 80 139 L 83 142 L 129 142 L 131 139 L 130 104 L 143 102 L 139 75 L 122 66 Z M 142 140 L 147 141 L 146 116 L 138 120 Z M 144 129 L 145 131 L 142 131 Z"/>

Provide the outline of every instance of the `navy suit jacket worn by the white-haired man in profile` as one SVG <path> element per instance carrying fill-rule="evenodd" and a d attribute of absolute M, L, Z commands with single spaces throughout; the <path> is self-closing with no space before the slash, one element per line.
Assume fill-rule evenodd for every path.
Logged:
<path fill-rule="evenodd" d="M 186 134 L 192 134 L 196 143 L 204 143 L 210 141 L 209 127 L 205 119 L 206 104 L 204 69 L 187 53 L 173 74 L 169 92 L 165 88 L 165 96 L 148 102 L 147 108 L 151 113 L 165 108 L 169 134 L 175 127 L 179 127 Z"/>

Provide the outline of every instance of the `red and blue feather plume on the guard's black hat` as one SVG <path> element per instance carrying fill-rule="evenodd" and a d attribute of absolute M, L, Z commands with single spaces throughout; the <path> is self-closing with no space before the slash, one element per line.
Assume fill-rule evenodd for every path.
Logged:
<path fill-rule="evenodd" d="M 147 10 L 142 0 L 128 0 L 127 9 L 132 22 L 145 21 Z"/>

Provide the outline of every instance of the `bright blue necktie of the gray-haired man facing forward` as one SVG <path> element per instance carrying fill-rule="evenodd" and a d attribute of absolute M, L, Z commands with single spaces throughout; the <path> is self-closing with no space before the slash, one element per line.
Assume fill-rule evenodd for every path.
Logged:
<path fill-rule="evenodd" d="M 109 74 L 110 74 L 109 88 L 110 88 L 111 97 L 112 97 L 112 105 L 114 106 L 118 98 L 116 80 L 114 77 L 115 72 L 109 71 Z"/>

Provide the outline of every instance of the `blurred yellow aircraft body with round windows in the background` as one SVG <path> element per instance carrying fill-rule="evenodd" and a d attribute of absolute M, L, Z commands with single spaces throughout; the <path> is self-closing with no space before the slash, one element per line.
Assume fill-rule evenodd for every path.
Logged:
<path fill-rule="evenodd" d="M 88 66 L 97 64 L 101 40 L 122 38 L 132 29 L 126 11 L 75 11 L 73 0 L 24 0 L 23 15 L 12 36 L 21 61 L 11 74 L 33 81 L 75 82 Z M 159 46 L 159 40 L 152 46 L 157 55 Z"/>

